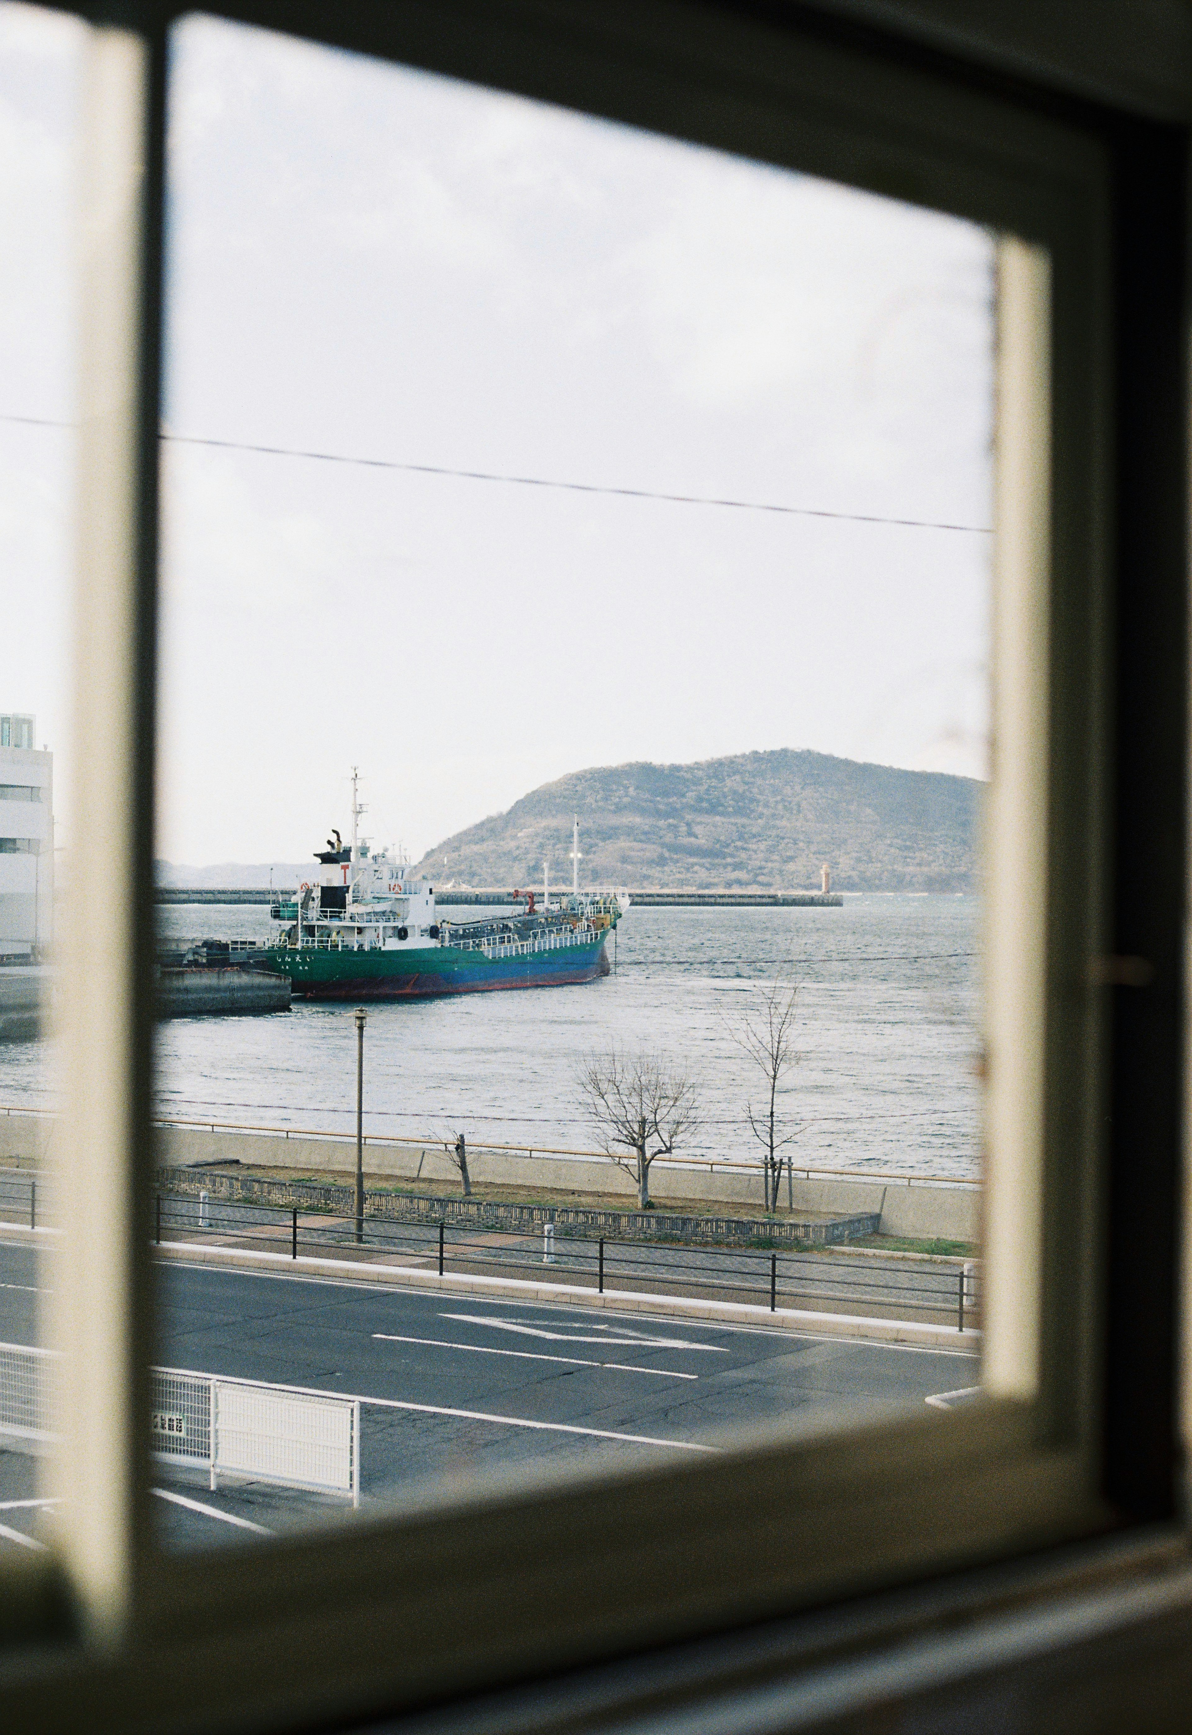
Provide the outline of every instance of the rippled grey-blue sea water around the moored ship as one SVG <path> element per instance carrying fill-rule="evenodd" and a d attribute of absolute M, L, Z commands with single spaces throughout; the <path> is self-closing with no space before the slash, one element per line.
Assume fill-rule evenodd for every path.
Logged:
<path fill-rule="evenodd" d="M 465 920 L 467 911 L 453 911 Z M 684 1070 L 699 1157 L 756 1157 L 748 1110 L 762 1072 L 743 1022 L 776 982 L 798 989 L 796 1064 L 779 1095 L 795 1168 L 972 1180 L 980 1171 L 975 897 L 864 895 L 842 909 L 632 907 L 616 970 L 574 987 L 368 1006 L 364 1129 L 536 1150 L 599 1149 L 578 1090 L 585 1060 L 616 1044 Z M 163 940 L 262 937 L 262 906 L 168 906 Z M 612 959 L 612 940 L 609 940 Z M 350 1131 L 352 1005 L 160 1027 L 160 1112 L 250 1126 Z M 0 1103 L 52 1107 L 50 1043 L 0 1046 Z M 477 1164 L 477 1178 L 482 1168 Z"/>

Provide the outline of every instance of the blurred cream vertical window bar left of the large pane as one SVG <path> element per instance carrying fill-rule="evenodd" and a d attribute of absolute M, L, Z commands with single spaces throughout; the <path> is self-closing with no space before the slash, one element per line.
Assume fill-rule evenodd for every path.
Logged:
<path fill-rule="evenodd" d="M 75 810 L 64 925 L 56 1546 L 80 1624 L 127 1629 L 147 1549 L 153 720 L 165 40 L 87 47 L 78 262 Z"/>

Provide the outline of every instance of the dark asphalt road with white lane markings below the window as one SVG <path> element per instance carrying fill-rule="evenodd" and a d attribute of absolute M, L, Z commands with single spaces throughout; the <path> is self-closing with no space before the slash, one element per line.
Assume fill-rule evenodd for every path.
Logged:
<path fill-rule="evenodd" d="M 0 1341 L 35 1343 L 54 1263 L 0 1246 Z M 40 1275 L 38 1275 L 40 1272 Z M 160 1365 L 363 1400 L 361 1504 L 465 1492 L 493 1473 L 694 1461 L 734 1431 L 918 1411 L 975 1385 L 972 1352 L 918 1350 L 765 1326 L 385 1289 L 194 1265 L 160 1267 Z M 467 1414 L 460 1414 L 467 1412 Z M 0 1450 L 0 1546 L 31 1534 L 33 1459 Z M 167 1548 L 248 1541 L 338 1503 L 158 1473 Z"/>

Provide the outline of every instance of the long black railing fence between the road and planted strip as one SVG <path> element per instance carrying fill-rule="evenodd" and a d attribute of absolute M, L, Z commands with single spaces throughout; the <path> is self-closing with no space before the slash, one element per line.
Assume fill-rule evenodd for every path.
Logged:
<path fill-rule="evenodd" d="M 763 1227 L 763 1225 L 760 1225 Z M 552 1286 L 732 1300 L 883 1319 L 979 1324 L 973 1263 L 946 1265 L 880 1254 L 699 1247 L 585 1235 L 547 1221 L 536 1232 L 489 1225 L 394 1221 L 297 1204 L 257 1204 L 210 1194 L 156 1194 L 156 1241 L 201 1241 L 302 1256 L 415 1265 L 429 1273 L 508 1275 Z"/>

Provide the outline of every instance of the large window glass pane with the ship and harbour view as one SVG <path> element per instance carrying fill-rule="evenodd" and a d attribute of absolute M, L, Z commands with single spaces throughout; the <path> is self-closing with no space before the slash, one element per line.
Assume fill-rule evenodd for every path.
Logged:
<path fill-rule="evenodd" d="M 172 76 L 163 1539 L 972 1393 L 996 239 Z"/>

